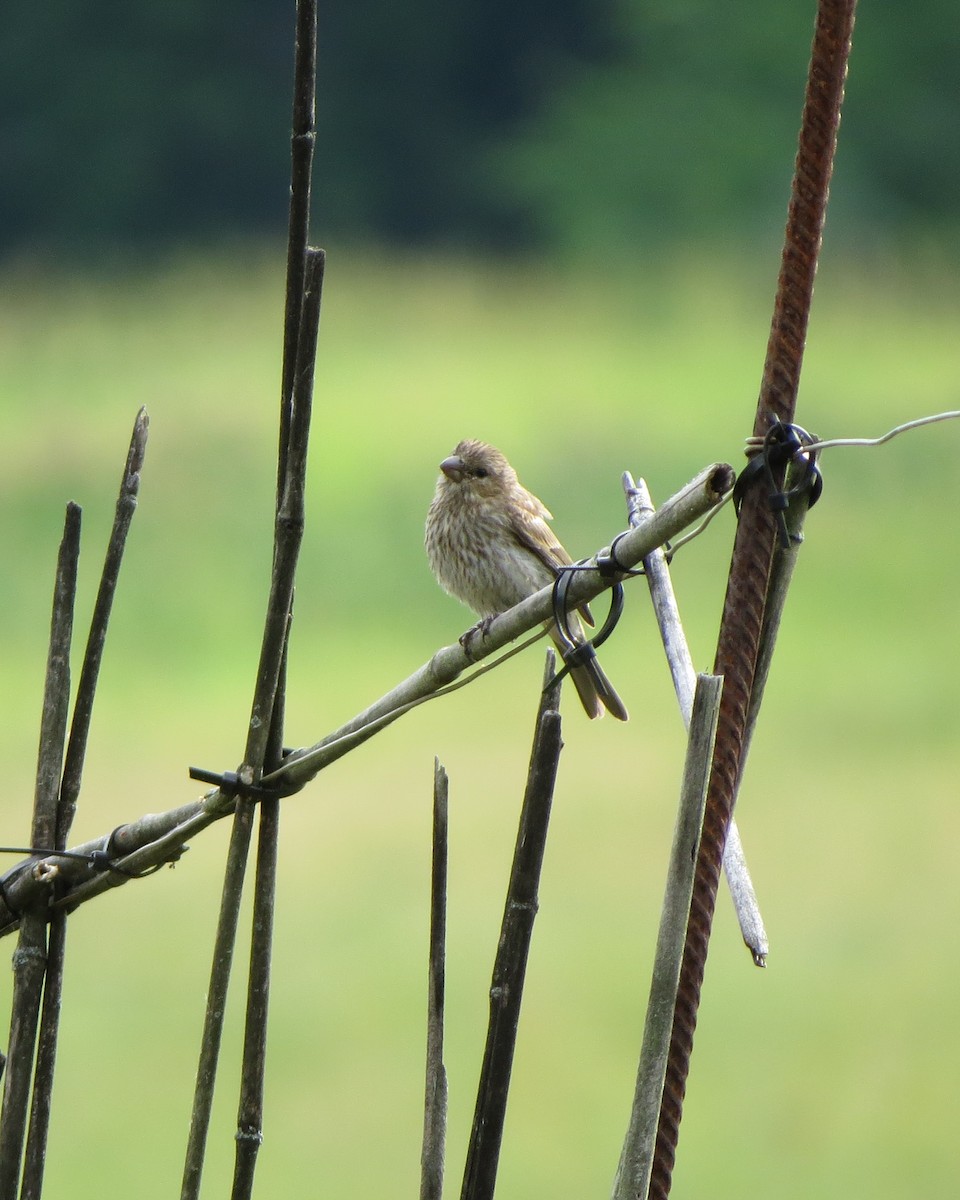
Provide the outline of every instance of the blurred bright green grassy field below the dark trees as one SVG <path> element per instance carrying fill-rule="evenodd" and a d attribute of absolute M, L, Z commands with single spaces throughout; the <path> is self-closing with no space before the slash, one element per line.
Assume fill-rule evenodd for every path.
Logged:
<path fill-rule="evenodd" d="M 190 799 L 240 757 L 270 558 L 280 247 L 96 277 L 0 277 L 4 840 L 28 828 L 62 506 L 78 625 L 126 440 L 151 437 L 76 840 Z M 330 256 L 288 738 L 316 740 L 470 623 L 421 550 L 436 463 L 499 444 L 588 553 L 739 464 L 772 263 L 635 270 Z M 870 434 L 958 407 L 960 287 L 917 253 L 821 271 L 798 419 Z M 739 809 L 773 953 L 720 898 L 678 1194 L 955 1194 L 960 427 L 833 451 Z M 678 557 L 708 668 L 732 518 Z M 626 1122 L 683 743 L 642 583 L 604 661 L 625 727 L 566 706 L 499 1194 L 605 1194 Z M 74 667 L 78 668 L 77 659 Z M 450 1187 L 469 1126 L 539 650 L 404 718 L 284 806 L 262 1188 L 416 1189 L 432 758 L 451 775 Z M 169 1195 L 182 1164 L 226 828 L 72 925 L 49 1195 Z M 12 950 L 12 942 L 7 943 Z M 206 1183 L 232 1172 L 242 953 Z"/>

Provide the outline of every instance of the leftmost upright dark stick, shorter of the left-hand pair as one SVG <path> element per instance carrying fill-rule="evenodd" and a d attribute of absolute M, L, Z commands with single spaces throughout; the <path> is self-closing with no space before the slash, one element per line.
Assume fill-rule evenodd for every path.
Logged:
<path fill-rule="evenodd" d="M 70 704 L 70 647 L 73 605 L 77 596 L 77 564 L 80 551 L 80 510 L 68 504 L 56 562 L 47 676 L 43 686 L 40 750 L 34 794 L 32 844 L 53 841 L 56 835 L 56 800 L 64 762 L 64 743 Z M 34 1051 L 47 966 L 47 913 L 44 902 L 53 893 L 53 876 L 42 864 L 31 868 L 38 888 L 31 908 L 23 914 L 20 937 L 13 955 L 13 1004 L 10 1026 L 10 1062 L 0 1109 L 0 1198 L 13 1200 L 20 1177 L 26 1115 L 30 1103 Z M 40 1104 L 49 1109 L 52 1061 L 44 1066 Z M 47 1069 L 49 1068 L 49 1069 Z M 42 1117 L 42 1114 L 41 1114 Z M 46 1130 L 46 1127 L 44 1127 Z M 35 1142 L 35 1154 L 38 1145 Z M 42 1166 L 42 1163 L 41 1163 Z M 36 1178 L 36 1165 L 32 1169 Z"/>

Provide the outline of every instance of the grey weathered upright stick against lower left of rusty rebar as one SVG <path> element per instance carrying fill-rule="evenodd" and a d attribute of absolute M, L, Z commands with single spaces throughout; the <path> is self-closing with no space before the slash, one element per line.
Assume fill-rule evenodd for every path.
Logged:
<path fill-rule="evenodd" d="M 613 1186 L 613 1200 L 646 1200 L 649 1188 L 722 684 L 719 676 L 700 676 L 696 682 L 680 806 L 660 913 L 634 1105 Z"/>

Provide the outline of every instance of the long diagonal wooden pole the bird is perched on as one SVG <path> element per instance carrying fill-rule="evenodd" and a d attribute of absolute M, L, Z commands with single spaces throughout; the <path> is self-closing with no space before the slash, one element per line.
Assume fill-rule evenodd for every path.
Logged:
<path fill-rule="evenodd" d="M 618 560 L 624 566 L 634 566 L 656 546 L 676 538 L 730 491 L 732 480 L 733 470 L 726 464 L 714 464 L 701 472 L 686 487 L 661 504 L 649 520 L 618 541 Z M 589 562 L 595 559 L 596 556 Z M 592 599 L 607 586 L 607 581 L 595 570 L 578 572 L 576 582 L 570 588 L 570 602 L 576 605 Z M 438 650 L 418 671 L 370 708 L 328 734 L 317 745 L 295 751 L 284 760 L 282 772 L 264 775 L 262 782 L 266 786 L 276 784 L 284 793 L 298 791 L 324 767 L 336 762 L 403 713 L 409 712 L 413 704 L 456 679 L 473 662 L 488 658 L 511 640 L 539 628 L 550 617 L 551 607 L 551 589 L 545 588 L 502 613 L 491 623 L 485 638 L 464 637 L 470 649 L 469 655 L 460 643 Z M 235 806 L 235 798 L 215 790 L 200 799 L 167 812 L 146 814 L 128 824 L 120 826 L 112 834 L 84 842 L 72 851 L 77 854 L 106 853 L 116 868 L 131 874 L 103 870 L 102 864 L 56 856 L 44 857 L 47 866 L 55 870 L 60 878 L 64 894 L 58 904 L 72 911 L 110 888 L 128 883 L 139 872 L 175 862 L 192 838 L 215 821 L 229 816 Z M 34 883 L 24 872 L 23 864 L 18 864 L 5 876 L 6 901 L 0 899 L 0 937 L 17 928 L 17 913 L 29 906 L 32 888 Z"/>

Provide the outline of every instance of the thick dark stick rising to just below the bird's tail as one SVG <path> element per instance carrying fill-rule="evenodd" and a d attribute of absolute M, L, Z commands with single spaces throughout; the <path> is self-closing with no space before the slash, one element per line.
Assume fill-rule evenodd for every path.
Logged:
<path fill-rule="evenodd" d="M 461 1200 L 492 1200 L 497 1182 L 506 1097 L 514 1067 L 527 956 L 538 911 L 538 886 L 560 760 L 560 686 L 547 650 L 527 788 L 490 989 L 490 1022 L 480 1072 Z"/>

